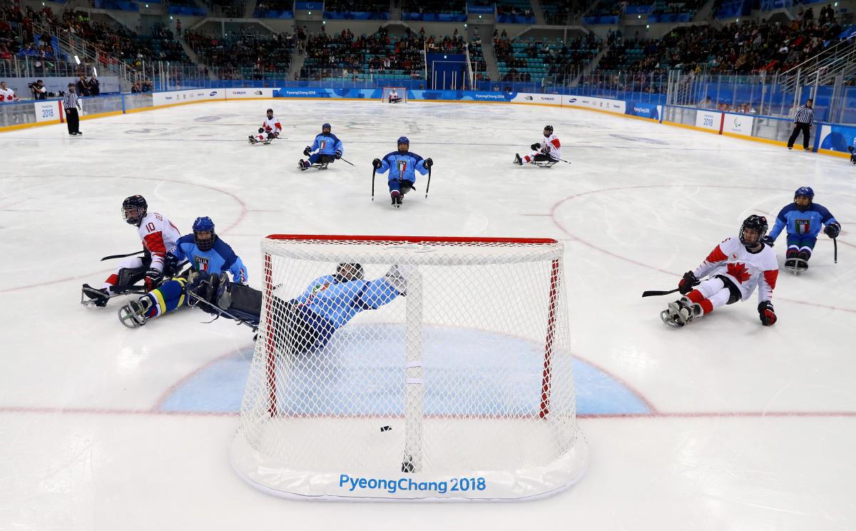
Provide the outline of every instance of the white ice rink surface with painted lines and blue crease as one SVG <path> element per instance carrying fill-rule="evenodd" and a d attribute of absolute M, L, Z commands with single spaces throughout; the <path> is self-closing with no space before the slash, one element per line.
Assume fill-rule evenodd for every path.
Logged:
<path fill-rule="evenodd" d="M 249 146 L 269 106 L 285 139 Z M 297 170 L 322 122 L 354 167 Z M 548 123 L 572 164 L 511 164 Z M 81 130 L 0 134 L 0 529 L 856 528 L 856 168 L 846 159 L 502 104 L 223 102 Z M 428 198 L 419 177 L 395 210 L 384 177 L 371 200 L 371 161 L 402 134 L 435 166 Z M 775 326 L 760 325 L 753 296 L 674 330 L 658 316 L 671 295 L 639 297 L 674 288 L 749 214 L 772 224 L 805 185 L 843 226 L 839 262 L 821 235 L 808 271 L 782 271 Z M 182 234 L 211 216 L 255 286 L 271 233 L 560 239 L 574 355 L 618 383 L 584 385 L 578 371 L 578 392 L 609 403 L 629 390 L 644 407 L 580 411 L 589 469 L 555 498 L 266 496 L 228 458 L 241 392 L 229 374 L 246 373 L 252 333 L 225 319 L 201 324 L 207 316 L 192 310 L 129 330 L 116 301 L 79 304 L 80 284 L 116 266 L 101 257 L 140 247 L 120 217 L 131 194 Z M 781 265 L 784 237 L 776 243 Z"/>

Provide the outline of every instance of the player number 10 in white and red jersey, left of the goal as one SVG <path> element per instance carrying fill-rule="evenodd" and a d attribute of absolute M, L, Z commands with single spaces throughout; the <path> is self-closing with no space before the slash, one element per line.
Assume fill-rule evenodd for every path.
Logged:
<path fill-rule="evenodd" d="M 148 212 L 148 204 L 142 195 L 132 195 L 122 201 L 122 218 L 125 223 L 137 227 L 143 242 L 143 256 L 122 260 L 116 271 L 107 277 L 100 289 L 83 284 L 83 295 L 95 306 L 106 306 L 112 295 L 118 295 L 114 286 L 131 286 L 145 280 L 146 291 L 151 291 L 163 277 L 167 250 L 175 247 L 181 234 L 163 214 Z M 171 274 L 171 271 L 167 271 Z"/>

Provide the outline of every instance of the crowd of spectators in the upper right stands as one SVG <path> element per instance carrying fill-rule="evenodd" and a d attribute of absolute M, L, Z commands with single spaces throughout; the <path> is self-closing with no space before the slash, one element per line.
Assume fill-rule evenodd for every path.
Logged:
<path fill-rule="evenodd" d="M 829 11 L 823 23 L 743 21 L 722 29 L 675 27 L 663 39 L 611 38 L 601 70 L 633 72 L 682 69 L 709 74 L 782 72 L 838 42 L 841 27 Z"/>

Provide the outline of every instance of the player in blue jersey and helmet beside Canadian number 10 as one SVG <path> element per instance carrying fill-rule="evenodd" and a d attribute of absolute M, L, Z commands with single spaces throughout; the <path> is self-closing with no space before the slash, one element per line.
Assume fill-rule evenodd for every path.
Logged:
<path fill-rule="evenodd" d="M 186 305 L 190 301 L 187 301 L 185 296 L 185 286 L 188 283 L 191 286 L 194 283 L 198 285 L 208 275 L 219 276 L 228 272 L 235 279 L 235 283 L 247 283 L 247 267 L 229 244 L 217 236 L 214 222 L 207 216 L 196 218 L 193 222 L 193 234 L 181 236 L 167 256 L 173 271 L 178 268 L 178 264 L 187 261 L 191 266 L 187 276 L 174 277 L 139 300 L 129 301 L 119 310 L 119 320 L 122 324 L 134 328 L 140 325 L 140 321 L 134 319 L 133 315 L 150 319 Z"/>

